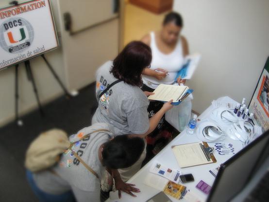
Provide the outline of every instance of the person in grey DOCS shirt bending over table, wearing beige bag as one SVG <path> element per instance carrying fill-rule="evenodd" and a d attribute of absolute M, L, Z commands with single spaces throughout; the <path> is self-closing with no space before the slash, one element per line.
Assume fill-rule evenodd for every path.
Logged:
<path fill-rule="evenodd" d="M 59 163 L 50 170 L 32 173 L 27 179 L 40 202 L 100 202 L 101 176 L 105 169 L 113 173 L 116 188 L 134 196 L 139 192 L 134 184 L 125 184 L 119 177 L 118 168 L 133 165 L 144 150 L 144 141 L 128 135 L 114 137 L 114 129 L 105 123 L 94 124 L 69 137 L 70 142 L 98 129 L 77 142 L 73 151 L 99 176 L 99 179 L 80 162 L 70 150 L 61 156 Z M 74 199 L 74 197 L 75 199 Z"/>

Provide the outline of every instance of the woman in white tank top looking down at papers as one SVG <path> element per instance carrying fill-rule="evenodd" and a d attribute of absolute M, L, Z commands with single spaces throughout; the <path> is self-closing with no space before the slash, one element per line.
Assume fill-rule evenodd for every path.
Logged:
<path fill-rule="evenodd" d="M 151 32 L 141 39 L 151 47 L 152 61 L 150 68 L 145 68 L 142 75 L 143 91 L 153 92 L 159 84 L 173 84 L 177 72 L 184 64 L 184 57 L 189 54 L 187 40 L 180 33 L 183 28 L 183 20 L 180 14 L 171 12 L 166 15 L 160 31 Z M 178 78 L 178 84 L 185 84 L 185 79 Z M 162 102 L 150 102 L 149 118 L 159 111 Z M 148 137 L 148 144 L 154 147 L 154 137 L 164 128 L 164 116 L 161 118 L 156 130 Z"/>

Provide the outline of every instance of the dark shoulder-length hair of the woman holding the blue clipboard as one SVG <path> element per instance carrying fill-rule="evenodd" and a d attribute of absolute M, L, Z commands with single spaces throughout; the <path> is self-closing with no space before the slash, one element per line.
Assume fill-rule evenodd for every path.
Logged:
<path fill-rule="evenodd" d="M 113 61 L 110 73 L 132 86 L 141 86 L 141 74 L 151 64 L 151 48 L 141 41 L 132 41 Z"/>

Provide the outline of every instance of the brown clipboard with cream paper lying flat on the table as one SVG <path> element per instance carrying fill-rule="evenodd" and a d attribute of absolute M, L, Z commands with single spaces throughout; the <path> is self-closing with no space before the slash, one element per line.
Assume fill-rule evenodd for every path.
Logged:
<path fill-rule="evenodd" d="M 214 148 L 206 142 L 175 145 L 171 148 L 181 168 L 217 162 L 213 154 Z"/>

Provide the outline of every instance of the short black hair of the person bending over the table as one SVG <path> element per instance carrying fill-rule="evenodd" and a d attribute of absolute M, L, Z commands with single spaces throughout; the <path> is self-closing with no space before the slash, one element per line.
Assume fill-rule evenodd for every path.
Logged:
<path fill-rule="evenodd" d="M 118 135 L 104 144 L 103 165 L 112 169 L 130 167 L 140 158 L 144 147 L 145 142 L 140 137 Z"/>

